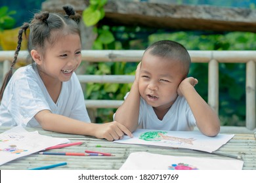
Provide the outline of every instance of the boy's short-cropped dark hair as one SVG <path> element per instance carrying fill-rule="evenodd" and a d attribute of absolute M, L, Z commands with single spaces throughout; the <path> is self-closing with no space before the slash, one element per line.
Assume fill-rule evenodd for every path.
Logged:
<path fill-rule="evenodd" d="M 181 61 L 184 66 L 184 74 L 185 76 L 188 75 L 191 58 L 188 50 L 179 42 L 170 40 L 157 41 L 148 46 L 144 53 L 146 52 L 149 52 L 152 56 Z"/>

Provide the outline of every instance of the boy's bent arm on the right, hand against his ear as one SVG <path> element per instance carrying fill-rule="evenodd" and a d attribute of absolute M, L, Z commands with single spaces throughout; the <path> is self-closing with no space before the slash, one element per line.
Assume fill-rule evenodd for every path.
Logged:
<path fill-rule="evenodd" d="M 183 95 L 188 101 L 198 129 L 209 137 L 218 135 L 220 131 L 220 121 L 216 112 L 209 107 L 203 98 L 196 92 L 194 86 L 198 84 L 198 80 L 189 77 L 182 80 L 178 88 L 178 94 Z"/>

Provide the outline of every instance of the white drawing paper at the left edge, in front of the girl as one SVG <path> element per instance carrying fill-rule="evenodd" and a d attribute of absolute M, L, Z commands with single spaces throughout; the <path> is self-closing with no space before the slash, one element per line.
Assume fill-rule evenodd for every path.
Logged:
<path fill-rule="evenodd" d="M 38 131 L 28 132 L 23 127 L 16 126 L 0 134 L 0 165 L 68 142 L 68 139 L 48 137 L 40 135 Z"/>

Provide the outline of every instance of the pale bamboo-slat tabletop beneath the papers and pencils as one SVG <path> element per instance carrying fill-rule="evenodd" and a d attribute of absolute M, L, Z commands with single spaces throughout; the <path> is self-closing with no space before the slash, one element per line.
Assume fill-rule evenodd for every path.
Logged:
<path fill-rule="evenodd" d="M 11 127 L 0 127 L 0 133 L 10 129 Z M 71 142 L 81 141 L 80 146 L 66 147 L 66 152 L 84 152 L 85 150 L 95 150 L 99 152 L 109 152 L 115 156 L 55 156 L 31 154 L 22 158 L 14 159 L 0 166 L 1 170 L 7 169 L 31 169 L 44 165 L 51 165 L 66 161 L 68 165 L 55 167 L 54 169 L 73 169 L 73 170 L 115 170 L 119 169 L 125 162 L 131 152 L 151 152 L 156 154 L 165 154 L 171 156 L 194 156 L 205 158 L 225 158 L 230 157 L 210 154 L 207 152 L 199 152 L 189 149 L 165 148 L 158 146 L 146 146 L 138 144 L 120 144 L 106 141 L 104 139 L 96 139 L 83 135 L 70 135 L 63 133 L 55 133 L 52 131 L 44 131 L 39 128 L 28 128 L 28 131 L 39 131 L 41 135 L 51 137 L 63 137 Z M 51 150 L 58 152 L 60 150 Z M 255 134 L 235 134 L 234 137 L 216 151 L 218 154 L 232 155 L 240 157 L 244 161 L 243 169 L 256 169 L 256 139 Z"/>

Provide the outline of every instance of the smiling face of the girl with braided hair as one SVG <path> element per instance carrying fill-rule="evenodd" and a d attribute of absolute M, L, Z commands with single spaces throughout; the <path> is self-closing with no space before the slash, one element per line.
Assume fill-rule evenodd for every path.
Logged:
<path fill-rule="evenodd" d="M 53 35 L 54 36 L 54 33 Z M 56 39 L 53 45 L 45 44 L 45 53 L 37 60 L 43 82 L 65 82 L 70 80 L 81 63 L 81 41 L 79 35 L 67 34 Z"/>

